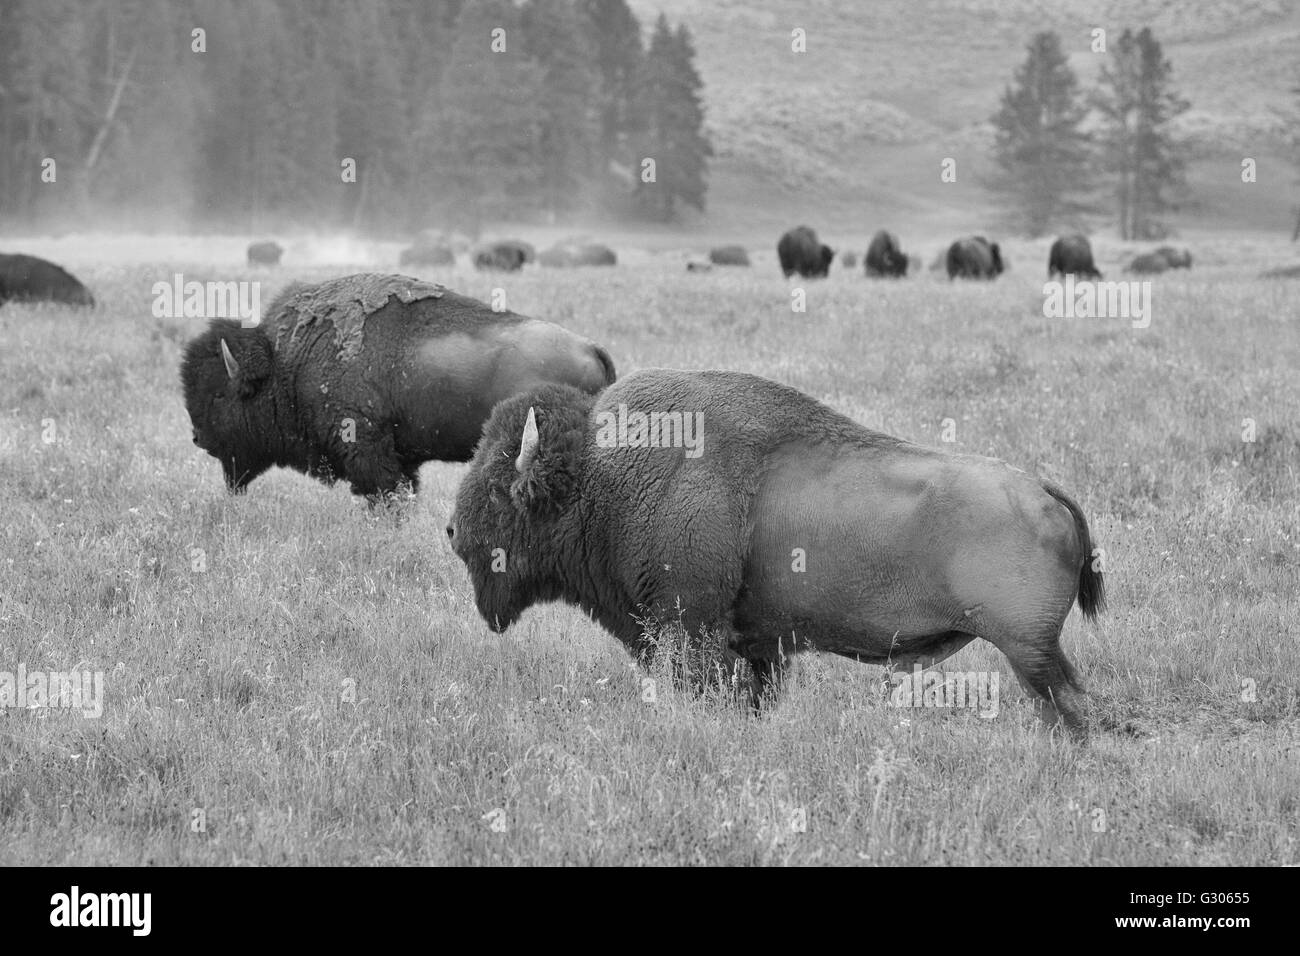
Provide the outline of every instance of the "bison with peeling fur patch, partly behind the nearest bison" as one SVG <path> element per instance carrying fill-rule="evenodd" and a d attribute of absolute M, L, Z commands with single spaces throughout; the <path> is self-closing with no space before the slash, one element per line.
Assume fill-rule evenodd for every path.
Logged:
<path fill-rule="evenodd" d="M 606 351 L 559 325 L 406 276 L 291 286 L 255 328 L 216 320 L 181 367 L 194 444 L 243 490 L 273 464 L 356 494 L 465 462 L 493 406 L 549 382 L 598 392 Z"/>

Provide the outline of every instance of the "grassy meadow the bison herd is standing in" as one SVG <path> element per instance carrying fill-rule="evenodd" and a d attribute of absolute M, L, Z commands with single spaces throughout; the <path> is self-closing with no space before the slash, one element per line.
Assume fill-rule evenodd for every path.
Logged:
<path fill-rule="evenodd" d="M 944 669 L 1000 674 L 993 719 L 820 658 L 753 719 L 664 682 L 644 701 L 568 607 L 494 636 L 442 533 L 460 466 L 426 466 L 400 519 L 290 472 L 229 498 L 178 395 L 199 321 L 150 313 L 177 268 L 203 272 L 103 267 L 94 312 L 0 310 L 0 671 L 105 672 L 99 719 L 0 709 L 0 862 L 1300 860 L 1295 282 L 1157 277 L 1139 330 L 1043 319 L 1027 260 L 833 274 L 803 315 L 768 263 L 442 277 L 623 372 L 755 372 L 923 442 L 953 419 L 954 447 L 1058 480 L 1110 593 L 1063 643 L 1128 727 L 1080 747 L 987 645 Z"/>

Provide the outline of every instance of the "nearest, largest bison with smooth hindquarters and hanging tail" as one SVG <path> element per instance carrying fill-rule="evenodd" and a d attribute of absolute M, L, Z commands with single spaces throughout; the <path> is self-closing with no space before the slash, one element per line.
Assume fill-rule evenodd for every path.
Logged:
<path fill-rule="evenodd" d="M 644 620 L 724 636 L 759 700 L 816 649 L 930 666 L 983 637 L 1082 728 L 1061 652 L 1102 606 L 1079 507 L 1004 462 L 872 432 L 740 372 L 634 372 L 497 406 L 447 527 L 497 631 L 577 605 L 629 650 Z M 502 563 L 504 555 L 504 563 Z"/>

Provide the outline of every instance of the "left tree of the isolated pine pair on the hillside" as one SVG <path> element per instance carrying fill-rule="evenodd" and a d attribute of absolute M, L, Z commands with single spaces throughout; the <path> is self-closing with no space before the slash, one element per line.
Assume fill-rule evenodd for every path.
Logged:
<path fill-rule="evenodd" d="M 1001 170 L 994 189 L 1011 199 L 1015 225 L 1028 235 L 1076 226 L 1088 209 L 1091 143 L 1082 129 L 1087 112 L 1061 38 L 1036 34 L 993 116 Z"/>

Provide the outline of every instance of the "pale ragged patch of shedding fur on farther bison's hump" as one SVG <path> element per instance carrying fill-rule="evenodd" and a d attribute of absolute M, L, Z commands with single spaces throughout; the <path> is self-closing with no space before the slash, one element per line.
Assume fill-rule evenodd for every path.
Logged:
<path fill-rule="evenodd" d="M 420 299 L 442 298 L 446 291 L 437 282 L 378 273 L 358 273 L 299 286 L 280 303 L 272 319 L 276 324 L 276 351 L 292 347 L 313 332 L 324 332 L 324 323 L 330 323 L 339 360 L 355 359 L 361 352 L 367 317 L 384 308 L 389 298 L 395 295 L 403 304 L 411 304 Z"/>

